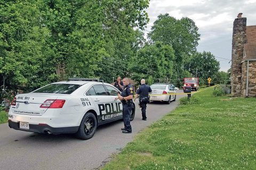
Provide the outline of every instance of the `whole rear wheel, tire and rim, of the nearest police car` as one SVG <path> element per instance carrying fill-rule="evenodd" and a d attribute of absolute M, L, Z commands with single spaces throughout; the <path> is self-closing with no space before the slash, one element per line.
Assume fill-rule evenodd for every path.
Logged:
<path fill-rule="evenodd" d="M 97 129 L 97 119 L 93 113 L 86 113 L 81 121 L 77 137 L 83 140 L 87 140 L 93 137 Z"/>

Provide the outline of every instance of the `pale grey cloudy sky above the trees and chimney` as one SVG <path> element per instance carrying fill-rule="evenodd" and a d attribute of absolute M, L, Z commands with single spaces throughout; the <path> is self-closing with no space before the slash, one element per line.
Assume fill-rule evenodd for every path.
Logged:
<path fill-rule="evenodd" d="M 221 71 L 230 68 L 233 21 L 237 14 L 243 13 L 247 25 L 256 25 L 256 0 L 150 0 L 147 12 L 150 19 L 148 31 L 161 13 L 194 20 L 201 34 L 197 50 L 228 59 L 216 58 Z"/>

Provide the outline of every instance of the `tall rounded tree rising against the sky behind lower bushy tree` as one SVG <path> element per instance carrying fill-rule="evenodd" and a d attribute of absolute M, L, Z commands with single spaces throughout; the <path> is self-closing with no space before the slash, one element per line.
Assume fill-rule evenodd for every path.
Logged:
<path fill-rule="evenodd" d="M 183 75 L 184 62 L 196 52 L 199 40 L 198 28 L 189 18 L 177 20 L 169 14 L 160 14 L 154 22 L 148 37 L 152 43 L 161 41 L 174 49 L 175 62 L 172 79 L 179 83 Z"/>

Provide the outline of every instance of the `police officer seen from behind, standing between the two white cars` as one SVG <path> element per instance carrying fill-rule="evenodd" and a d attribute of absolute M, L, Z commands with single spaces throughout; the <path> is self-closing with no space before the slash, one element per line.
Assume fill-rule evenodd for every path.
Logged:
<path fill-rule="evenodd" d="M 141 107 L 141 114 L 142 114 L 143 121 L 147 121 L 146 108 L 147 108 L 147 104 L 149 101 L 148 93 L 152 91 L 150 86 L 146 85 L 145 82 L 146 82 L 145 79 L 141 79 L 141 81 L 140 81 L 141 86 L 136 91 L 136 95 L 134 98 L 134 101 L 135 101 L 140 95 L 139 106 Z"/>

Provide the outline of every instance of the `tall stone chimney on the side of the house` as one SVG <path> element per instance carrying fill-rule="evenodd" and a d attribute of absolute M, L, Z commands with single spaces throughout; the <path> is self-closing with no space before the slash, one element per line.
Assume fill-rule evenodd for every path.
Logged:
<path fill-rule="evenodd" d="M 246 18 L 239 13 L 233 24 L 232 64 L 231 64 L 231 94 L 242 95 L 242 60 L 244 44 L 246 43 Z"/>

